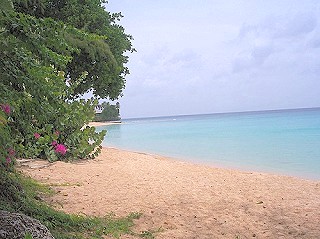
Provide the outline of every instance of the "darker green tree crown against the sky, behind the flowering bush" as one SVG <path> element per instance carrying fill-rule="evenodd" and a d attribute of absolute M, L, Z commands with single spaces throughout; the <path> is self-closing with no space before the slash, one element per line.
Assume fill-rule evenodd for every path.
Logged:
<path fill-rule="evenodd" d="M 82 94 L 92 87 L 96 96 L 118 98 L 124 88 L 124 77 L 129 73 L 124 66 L 128 62 L 124 53 L 134 51 L 132 36 L 117 24 L 121 14 L 105 11 L 100 0 L 69 0 L 59 1 L 58 4 L 53 2 L 55 1 L 48 1 L 46 4 L 48 16 L 86 32 L 106 36 L 104 40 L 82 42 L 80 45 L 71 41 L 80 49 L 73 55 L 73 61 L 67 68 L 71 82 L 78 79 L 82 72 L 88 72 L 87 78 L 81 82 L 81 87 L 75 89 L 75 93 Z M 108 49 L 105 45 L 108 45 Z"/>

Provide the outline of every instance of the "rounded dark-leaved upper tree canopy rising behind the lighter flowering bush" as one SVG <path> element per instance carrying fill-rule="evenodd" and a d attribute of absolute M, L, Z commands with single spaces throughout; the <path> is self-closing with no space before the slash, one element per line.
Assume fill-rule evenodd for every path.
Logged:
<path fill-rule="evenodd" d="M 74 30 L 65 34 L 68 44 L 77 49 L 65 69 L 65 79 L 73 88 L 69 97 L 76 98 L 89 90 L 101 98 L 116 99 L 121 95 L 125 76 L 129 73 L 125 66 L 128 56 L 124 53 L 135 49 L 131 44 L 132 36 L 117 24 L 122 17 L 120 13 L 105 11 L 102 6 L 105 1 L 100 0 L 13 2 L 18 12 L 37 18 L 52 18 L 81 30 L 80 36 Z M 96 37 L 83 37 L 83 32 Z"/>

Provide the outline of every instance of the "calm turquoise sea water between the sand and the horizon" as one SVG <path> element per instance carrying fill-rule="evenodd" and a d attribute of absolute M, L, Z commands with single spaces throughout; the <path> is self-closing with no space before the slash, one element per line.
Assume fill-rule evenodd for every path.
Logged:
<path fill-rule="evenodd" d="M 320 108 L 124 120 L 104 146 L 320 179 Z"/>

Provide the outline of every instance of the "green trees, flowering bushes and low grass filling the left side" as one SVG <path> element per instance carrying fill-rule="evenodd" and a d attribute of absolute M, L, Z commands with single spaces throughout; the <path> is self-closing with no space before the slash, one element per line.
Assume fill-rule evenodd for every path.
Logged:
<path fill-rule="evenodd" d="M 133 220 L 68 215 L 15 172 L 14 158 L 93 158 L 105 132 L 84 127 L 99 98 L 122 94 L 131 36 L 100 0 L 0 0 L 0 209 L 41 221 L 55 238 L 134 234 Z M 94 98 L 80 99 L 92 91 Z M 40 196 L 39 196 L 40 193 Z M 152 238 L 149 232 L 139 234 Z M 30 238 L 30 235 L 26 235 Z"/>

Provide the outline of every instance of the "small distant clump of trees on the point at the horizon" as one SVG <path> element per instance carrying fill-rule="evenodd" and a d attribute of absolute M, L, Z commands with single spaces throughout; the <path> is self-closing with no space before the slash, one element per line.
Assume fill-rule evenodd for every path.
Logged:
<path fill-rule="evenodd" d="M 104 102 L 99 105 L 102 109 L 101 113 L 96 113 L 94 121 L 119 121 L 120 118 L 120 104 L 111 105 L 109 102 Z"/>

